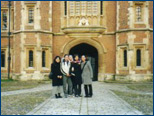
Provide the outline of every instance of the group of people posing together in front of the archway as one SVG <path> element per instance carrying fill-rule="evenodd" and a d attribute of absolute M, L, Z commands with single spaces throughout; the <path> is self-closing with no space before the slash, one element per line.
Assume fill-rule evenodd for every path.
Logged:
<path fill-rule="evenodd" d="M 85 55 L 56 56 L 51 64 L 53 93 L 56 98 L 82 97 L 81 86 L 84 85 L 85 97 L 92 97 L 93 70 Z"/>

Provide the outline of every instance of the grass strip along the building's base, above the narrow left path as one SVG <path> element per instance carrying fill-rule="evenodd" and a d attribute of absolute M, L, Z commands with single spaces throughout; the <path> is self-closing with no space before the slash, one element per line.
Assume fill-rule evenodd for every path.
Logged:
<path fill-rule="evenodd" d="M 20 89 L 34 88 L 39 85 L 51 83 L 47 81 L 16 81 L 16 80 L 1 80 L 1 92 L 13 91 Z"/>

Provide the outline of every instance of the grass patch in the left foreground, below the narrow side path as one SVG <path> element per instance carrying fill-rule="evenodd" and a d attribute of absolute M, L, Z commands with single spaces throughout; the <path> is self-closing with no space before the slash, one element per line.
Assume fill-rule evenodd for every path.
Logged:
<path fill-rule="evenodd" d="M 1 115 L 24 115 L 47 100 L 51 91 L 1 97 Z"/>

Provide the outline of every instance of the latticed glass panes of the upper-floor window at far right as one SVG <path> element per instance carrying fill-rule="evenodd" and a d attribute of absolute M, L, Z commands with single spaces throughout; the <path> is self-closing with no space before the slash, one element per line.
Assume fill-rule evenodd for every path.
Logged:
<path fill-rule="evenodd" d="M 142 6 L 136 5 L 136 22 L 142 21 Z"/>

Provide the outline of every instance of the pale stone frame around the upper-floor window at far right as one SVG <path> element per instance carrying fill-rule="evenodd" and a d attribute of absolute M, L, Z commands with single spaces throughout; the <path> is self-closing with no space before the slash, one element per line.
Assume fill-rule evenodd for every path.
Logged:
<path fill-rule="evenodd" d="M 136 7 L 141 6 L 141 21 L 137 21 L 137 16 L 136 16 Z M 134 23 L 135 24 L 144 24 L 144 16 L 145 16 L 145 2 L 144 1 L 134 1 Z"/>

